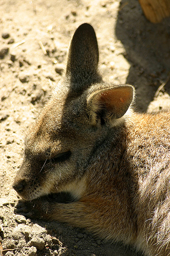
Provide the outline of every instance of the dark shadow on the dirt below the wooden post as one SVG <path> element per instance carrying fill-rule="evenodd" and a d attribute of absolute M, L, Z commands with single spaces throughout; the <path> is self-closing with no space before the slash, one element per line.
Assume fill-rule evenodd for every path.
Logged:
<path fill-rule="evenodd" d="M 122 0 L 115 32 L 131 64 L 126 83 L 136 88 L 136 110 L 145 112 L 170 70 L 170 18 L 150 23 L 137 0 Z"/>

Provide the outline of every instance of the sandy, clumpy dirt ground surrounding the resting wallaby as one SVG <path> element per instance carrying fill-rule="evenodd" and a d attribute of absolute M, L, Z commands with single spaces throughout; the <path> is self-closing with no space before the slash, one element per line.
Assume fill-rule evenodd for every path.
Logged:
<path fill-rule="evenodd" d="M 6 256 L 137 256 L 62 223 L 14 213 L 12 182 L 24 134 L 61 78 L 75 29 L 90 23 L 99 43 L 100 70 L 133 84 L 138 112 L 170 106 L 170 19 L 151 24 L 137 0 L 0 1 L 0 236 Z M 43 44 L 46 54 L 40 47 Z M 162 84 L 162 89 L 161 89 Z M 1 255 L 1 247 L 0 247 Z"/>

